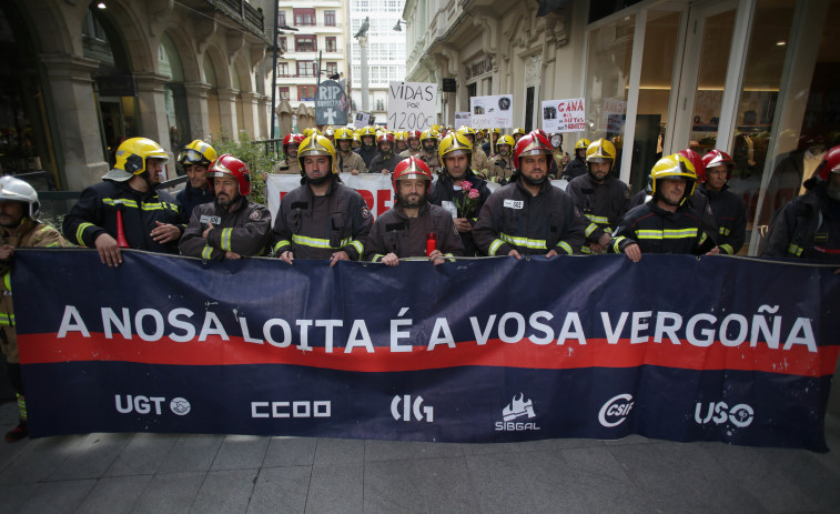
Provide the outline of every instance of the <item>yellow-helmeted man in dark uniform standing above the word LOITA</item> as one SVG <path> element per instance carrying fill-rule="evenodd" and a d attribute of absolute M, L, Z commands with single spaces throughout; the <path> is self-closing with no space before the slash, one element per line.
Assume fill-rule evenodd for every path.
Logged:
<path fill-rule="evenodd" d="M 295 259 L 361 260 L 373 220 L 364 199 L 341 183 L 335 149 L 328 139 L 306 138 L 297 152 L 302 185 L 280 202 L 272 230 L 274 254 Z"/>

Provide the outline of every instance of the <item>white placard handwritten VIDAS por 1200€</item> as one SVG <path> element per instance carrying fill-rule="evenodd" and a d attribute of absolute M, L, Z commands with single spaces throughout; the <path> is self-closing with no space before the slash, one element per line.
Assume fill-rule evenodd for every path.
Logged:
<path fill-rule="evenodd" d="M 392 81 L 388 85 L 388 130 L 426 130 L 435 123 L 437 84 Z"/>

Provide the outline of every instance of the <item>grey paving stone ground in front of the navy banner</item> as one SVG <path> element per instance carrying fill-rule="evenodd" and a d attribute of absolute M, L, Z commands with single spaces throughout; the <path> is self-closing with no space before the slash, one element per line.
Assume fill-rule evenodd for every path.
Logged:
<path fill-rule="evenodd" d="M 17 423 L 0 405 L 0 431 Z M 720 443 L 399 443 L 84 434 L 0 442 L 0 513 L 840 512 L 831 452 Z"/>

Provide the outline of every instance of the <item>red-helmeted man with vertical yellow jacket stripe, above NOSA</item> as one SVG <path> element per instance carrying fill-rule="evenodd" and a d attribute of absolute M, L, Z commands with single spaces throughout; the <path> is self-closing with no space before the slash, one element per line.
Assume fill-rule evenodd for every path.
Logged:
<path fill-rule="evenodd" d="M 251 172 L 244 162 L 224 153 L 210 167 L 215 201 L 199 205 L 181 238 L 184 255 L 242 259 L 264 253 L 271 235 L 271 213 L 249 200 Z"/>

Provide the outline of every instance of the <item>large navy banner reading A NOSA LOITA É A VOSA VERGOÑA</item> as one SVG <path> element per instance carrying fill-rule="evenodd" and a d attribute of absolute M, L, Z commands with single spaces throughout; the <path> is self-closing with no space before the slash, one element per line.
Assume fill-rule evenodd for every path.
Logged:
<path fill-rule="evenodd" d="M 827 451 L 840 350 L 829 266 L 123 258 L 109 268 L 88 249 L 16 251 L 32 436 L 639 434 Z"/>

